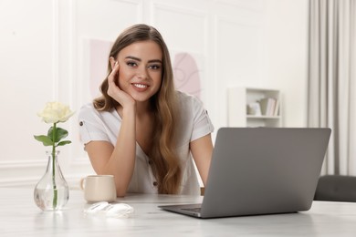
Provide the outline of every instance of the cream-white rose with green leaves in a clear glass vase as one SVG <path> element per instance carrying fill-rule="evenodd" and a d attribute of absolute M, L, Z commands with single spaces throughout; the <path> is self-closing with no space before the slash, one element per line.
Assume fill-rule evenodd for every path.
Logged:
<path fill-rule="evenodd" d="M 52 147 L 51 151 L 47 151 L 46 173 L 38 181 L 34 191 L 35 202 L 43 211 L 61 210 L 69 199 L 68 183 L 60 170 L 59 151 L 56 148 L 70 144 L 71 141 L 62 140 L 67 138 L 68 131 L 59 128 L 57 125 L 59 122 L 66 122 L 73 114 L 74 112 L 68 106 L 59 102 L 48 102 L 46 107 L 37 114 L 44 122 L 53 124 L 48 129 L 47 135 L 34 136 L 44 146 Z"/>

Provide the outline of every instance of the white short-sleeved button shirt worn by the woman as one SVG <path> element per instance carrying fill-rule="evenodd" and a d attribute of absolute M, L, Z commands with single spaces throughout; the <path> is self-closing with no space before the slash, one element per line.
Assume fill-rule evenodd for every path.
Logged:
<path fill-rule="evenodd" d="M 200 187 L 194 169 L 194 161 L 189 143 L 214 131 L 203 103 L 193 96 L 177 91 L 180 105 L 180 118 L 177 126 L 177 150 L 182 165 L 181 194 L 199 194 Z M 116 144 L 121 118 L 116 109 L 98 111 L 92 103 L 79 111 L 79 132 L 81 141 L 87 144 L 91 140 L 106 140 Z M 136 143 L 136 160 L 128 192 L 158 193 L 157 182 L 152 173 L 149 157 Z"/>

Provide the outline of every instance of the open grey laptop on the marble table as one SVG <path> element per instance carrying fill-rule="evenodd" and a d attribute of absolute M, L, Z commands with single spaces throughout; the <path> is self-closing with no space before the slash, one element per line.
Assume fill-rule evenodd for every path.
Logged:
<path fill-rule="evenodd" d="M 198 218 L 308 211 L 330 129 L 218 129 L 204 198 L 159 206 Z"/>

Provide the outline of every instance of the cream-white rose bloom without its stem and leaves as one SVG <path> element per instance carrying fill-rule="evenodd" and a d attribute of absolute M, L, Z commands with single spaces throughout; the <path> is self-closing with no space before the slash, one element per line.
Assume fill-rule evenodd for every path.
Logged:
<path fill-rule="evenodd" d="M 74 114 L 73 111 L 59 102 L 48 102 L 46 107 L 37 115 L 46 123 L 65 122 Z"/>

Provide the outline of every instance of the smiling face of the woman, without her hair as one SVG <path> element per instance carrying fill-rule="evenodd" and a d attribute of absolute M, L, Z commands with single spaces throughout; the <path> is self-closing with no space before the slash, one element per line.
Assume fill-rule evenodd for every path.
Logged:
<path fill-rule="evenodd" d="M 136 101 L 147 101 L 161 87 L 162 50 L 153 41 L 141 41 L 121 49 L 117 57 L 119 87 Z"/>

